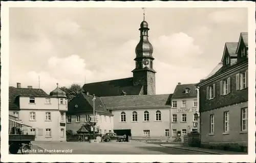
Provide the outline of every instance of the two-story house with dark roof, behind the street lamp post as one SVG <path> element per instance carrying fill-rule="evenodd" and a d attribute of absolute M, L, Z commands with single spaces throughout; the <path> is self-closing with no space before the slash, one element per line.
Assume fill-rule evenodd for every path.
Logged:
<path fill-rule="evenodd" d="M 67 112 L 67 130 L 76 133 L 84 123 L 91 120 L 95 109 L 96 126 L 100 134 L 113 131 L 113 114 L 109 112 L 99 97 L 82 92 L 69 102 Z"/>

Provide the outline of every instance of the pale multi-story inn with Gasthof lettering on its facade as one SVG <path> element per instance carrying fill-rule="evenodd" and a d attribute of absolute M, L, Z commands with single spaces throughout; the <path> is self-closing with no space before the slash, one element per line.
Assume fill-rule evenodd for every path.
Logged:
<path fill-rule="evenodd" d="M 196 84 L 178 83 L 172 97 L 171 110 L 172 137 L 176 137 L 179 131 L 182 137 L 191 131 L 198 131 Z"/>

